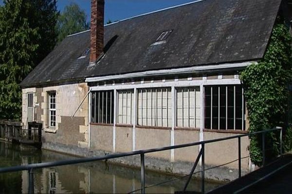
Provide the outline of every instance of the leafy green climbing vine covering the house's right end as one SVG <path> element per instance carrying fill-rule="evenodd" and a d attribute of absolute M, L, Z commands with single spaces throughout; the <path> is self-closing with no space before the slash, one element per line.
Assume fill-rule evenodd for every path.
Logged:
<path fill-rule="evenodd" d="M 244 95 L 248 110 L 249 132 L 272 129 L 276 126 L 284 129 L 284 149 L 292 148 L 292 121 L 289 114 L 289 85 L 292 85 L 292 37 L 283 19 L 277 17 L 271 40 L 264 58 L 248 66 L 241 73 Z M 266 156 L 272 158 L 280 151 L 279 133 L 266 134 L 269 151 Z M 251 161 L 262 165 L 262 137 L 250 137 Z"/>

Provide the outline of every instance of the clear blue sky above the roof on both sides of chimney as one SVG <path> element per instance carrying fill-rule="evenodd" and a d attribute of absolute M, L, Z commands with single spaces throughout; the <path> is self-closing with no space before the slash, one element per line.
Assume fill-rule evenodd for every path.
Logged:
<path fill-rule="evenodd" d="M 105 0 L 105 21 L 121 20 L 192 1 L 195 0 Z M 66 5 L 72 2 L 85 10 L 88 20 L 90 20 L 91 0 L 58 0 L 58 9 L 62 11 Z"/>

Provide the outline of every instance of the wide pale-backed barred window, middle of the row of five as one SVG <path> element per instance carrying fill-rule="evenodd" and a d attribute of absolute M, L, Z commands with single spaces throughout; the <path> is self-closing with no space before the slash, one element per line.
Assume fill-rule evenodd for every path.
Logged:
<path fill-rule="evenodd" d="M 138 89 L 138 125 L 171 126 L 171 88 Z"/>

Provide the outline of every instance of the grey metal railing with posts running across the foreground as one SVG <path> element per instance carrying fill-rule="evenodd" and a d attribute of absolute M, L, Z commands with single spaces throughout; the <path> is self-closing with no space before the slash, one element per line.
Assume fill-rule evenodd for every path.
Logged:
<path fill-rule="evenodd" d="M 128 156 L 134 156 L 134 155 L 140 155 L 140 162 L 141 162 L 141 193 L 145 194 L 145 154 L 147 153 L 153 153 L 153 152 L 159 152 L 159 151 L 165 151 L 165 150 L 171 150 L 171 149 L 178 149 L 183 147 L 189 147 L 189 146 L 199 146 L 201 145 L 200 153 L 192 167 L 191 173 L 184 185 L 183 192 L 185 192 L 192 175 L 194 174 L 194 170 L 196 169 L 200 158 L 201 158 L 201 193 L 205 193 L 205 145 L 225 140 L 231 140 L 231 139 L 238 139 L 238 178 L 241 177 L 241 138 L 246 136 L 252 136 L 256 134 L 262 134 L 262 151 L 263 151 L 263 165 L 265 165 L 265 134 L 267 132 L 280 130 L 280 155 L 282 155 L 282 128 L 274 128 L 274 129 L 268 129 L 263 131 L 257 131 L 253 133 L 247 133 L 247 134 L 240 134 L 235 135 L 231 137 L 225 137 L 225 138 L 219 138 L 219 139 L 213 139 L 213 140 L 207 140 L 202 142 L 195 142 L 195 143 L 189 143 L 189 144 L 183 144 L 183 145 L 177 145 L 177 146 L 167 146 L 167 147 L 161 147 L 161 148 L 154 148 L 154 149 L 146 149 L 146 150 L 138 150 L 133 152 L 125 152 L 125 153 L 117 153 L 117 154 L 111 154 L 111 155 L 105 155 L 105 156 L 97 156 L 97 157 L 90 157 L 90 158 L 81 158 L 81 159 L 74 159 L 74 160 L 64 160 L 64 161 L 58 161 L 58 162 L 44 162 L 44 163 L 35 163 L 35 164 L 28 164 L 28 165 L 22 165 L 22 166 L 14 166 L 14 167 L 5 167 L 0 168 L 0 173 L 7 173 L 7 172 L 16 172 L 16 171 L 28 171 L 29 173 L 29 194 L 34 194 L 34 170 L 40 169 L 40 168 L 48 168 L 48 167 L 55 167 L 55 166 L 62 166 L 62 165 L 70 165 L 70 164 L 78 164 L 78 163 L 85 163 L 85 162 L 95 162 L 95 161 L 102 161 L 102 160 L 109 160 L 109 159 L 115 159 L 115 158 L 121 158 L 121 157 L 128 157 Z"/>

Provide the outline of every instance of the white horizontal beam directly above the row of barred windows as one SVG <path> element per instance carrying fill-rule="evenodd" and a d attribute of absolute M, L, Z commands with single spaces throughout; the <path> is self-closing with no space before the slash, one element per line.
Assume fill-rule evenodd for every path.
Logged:
<path fill-rule="evenodd" d="M 241 84 L 239 79 L 222 79 L 222 80 L 192 80 L 192 81 L 167 81 L 157 83 L 115 85 L 115 86 L 92 86 L 91 91 L 113 90 L 113 89 L 136 89 L 136 88 L 159 88 L 159 87 L 189 87 L 203 85 L 234 85 Z"/>

